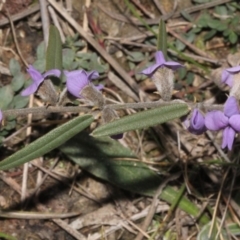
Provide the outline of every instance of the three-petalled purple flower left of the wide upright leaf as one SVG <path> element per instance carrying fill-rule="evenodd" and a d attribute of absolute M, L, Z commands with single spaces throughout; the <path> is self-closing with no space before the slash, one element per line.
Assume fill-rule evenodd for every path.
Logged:
<path fill-rule="evenodd" d="M 33 82 L 30 86 L 28 86 L 25 90 L 21 92 L 22 96 L 28 96 L 35 93 L 40 86 L 40 84 L 44 81 L 44 79 L 48 76 L 56 76 L 59 77 L 61 75 L 61 71 L 58 69 L 52 69 L 44 74 L 41 74 L 36 68 L 32 65 L 29 65 L 27 72 L 31 76 Z"/>

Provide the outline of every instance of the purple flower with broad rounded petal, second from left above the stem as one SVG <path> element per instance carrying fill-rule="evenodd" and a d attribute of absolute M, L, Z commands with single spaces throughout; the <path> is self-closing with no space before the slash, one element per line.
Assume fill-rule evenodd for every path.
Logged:
<path fill-rule="evenodd" d="M 90 85 L 91 80 L 99 77 L 97 71 L 86 72 L 85 70 L 64 71 L 67 78 L 67 89 L 76 98 L 82 98 L 81 91 Z M 103 88 L 102 85 L 94 86 L 97 90 Z"/>

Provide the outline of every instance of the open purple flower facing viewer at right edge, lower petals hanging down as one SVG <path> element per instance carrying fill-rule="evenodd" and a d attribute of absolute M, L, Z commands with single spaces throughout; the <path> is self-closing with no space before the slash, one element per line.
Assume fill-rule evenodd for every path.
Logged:
<path fill-rule="evenodd" d="M 229 97 L 224 105 L 223 112 L 211 111 L 206 114 L 205 126 L 212 131 L 223 129 L 222 148 L 232 145 L 236 132 L 240 132 L 240 112 L 235 97 Z"/>

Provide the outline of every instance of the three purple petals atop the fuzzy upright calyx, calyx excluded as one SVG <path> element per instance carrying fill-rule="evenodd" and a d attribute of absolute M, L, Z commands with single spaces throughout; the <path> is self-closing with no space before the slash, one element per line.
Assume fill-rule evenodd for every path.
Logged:
<path fill-rule="evenodd" d="M 164 55 L 163 55 L 162 51 L 157 51 L 155 53 L 155 60 L 156 60 L 155 64 L 146 68 L 141 73 L 151 77 L 152 74 L 160 67 L 167 67 L 167 68 L 170 68 L 172 70 L 176 70 L 177 68 L 182 67 L 182 65 L 180 63 L 167 62 L 164 58 Z"/>

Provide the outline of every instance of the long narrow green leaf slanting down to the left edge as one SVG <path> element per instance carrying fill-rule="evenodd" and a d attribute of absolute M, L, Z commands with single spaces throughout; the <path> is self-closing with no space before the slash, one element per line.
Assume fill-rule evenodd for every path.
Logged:
<path fill-rule="evenodd" d="M 1 161 L 0 170 L 17 167 L 50 152 L 88 127 L 92 121 L 93 117 L 91 115 L 84 115 L 70 120 Z"/>

